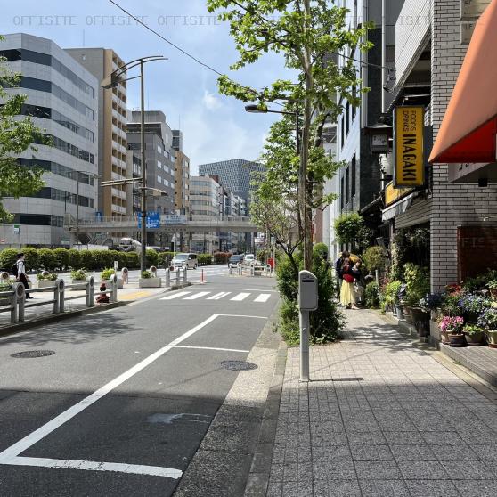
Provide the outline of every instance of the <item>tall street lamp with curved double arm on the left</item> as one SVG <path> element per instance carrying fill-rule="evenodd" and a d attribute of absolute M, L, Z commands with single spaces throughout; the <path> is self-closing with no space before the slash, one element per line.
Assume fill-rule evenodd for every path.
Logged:
<path fill-rule="evenodd" d="M 129 81 L 131 79 L 136 79 L 137 77 L 141 78 L 140 85 L 140 103 L 141 103 L 141 126 L 140 126 L 140 143 L 141 143 L 141 152 L 142 152 L 142 261 L 141 261 L 141 270 L 145 271 L 147 264 L 147 165 L 145 159 L 145 83 L 144 83 L 144 71 L 143 66 L 147 62 L 153 61 L 167 61 L 167 57 L 163 57 L 162 55 L 150 55 L 148 57 L 141 57 L 140 59 L 135 59 L 134 61 L 127 62 L 120 68 L 113 71 L 108 77 L 103 79 L 102 88 L 110 89 L 118 86 L 119 83 L 124 83 L 125 81 Z M 129 69 L 134 69 L 135 67 L 140 66 L 140 76 L 128 77 L 124 78 L 123 76 Z M 112 183 L 112 182 L 106 182 Z"/>

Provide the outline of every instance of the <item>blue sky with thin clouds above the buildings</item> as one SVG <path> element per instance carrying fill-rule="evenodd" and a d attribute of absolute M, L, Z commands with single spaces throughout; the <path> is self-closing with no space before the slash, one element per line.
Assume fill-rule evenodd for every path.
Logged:
<path fill-rule="evenodd" d="M 229 27 L 207 12 L 205 0 L 117 1 L 184 50 L 243 84 L 261 87 L 291 75 L 278 55 L 229 72 L 229 65 L 237 60 Z M 206 162 L 257 159 L 265 134 L 277 118 L 248 114 L 242 102 L 218 94 L 216 74 L 137 26 L 108 0 L 5 2 L 0 33 L 14 32 L 52 38 L 62 48 L 113 48 L 124 61 L 144 55 L 168 57 L 169 61 L 151 63 L 146 69 L 146 106 L 147 110 L 163 110 L 171 127 L 181 126 L 192 174 Z M 128 105 L 138 108 L 139 80 L 128 85 Z"/>

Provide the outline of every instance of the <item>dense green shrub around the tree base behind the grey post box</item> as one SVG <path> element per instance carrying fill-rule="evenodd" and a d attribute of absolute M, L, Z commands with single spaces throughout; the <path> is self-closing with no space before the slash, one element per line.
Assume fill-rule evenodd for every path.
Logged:
<path fill-rule="evenodd" d="M 302 257 L 296 257 L 302 268 Z M 314 253 L 312 272 L 318 279 L 318 309 L 311 313 L 310 339 L 313 343 L 334 341 L 345 326 L 345 317 L 334 302 L 335 284 L 333 274 L 319 252 Z M 282 297 L 279 328 L 290 344 L 298 343 L 298 274 L 289 257 L 282 258 L 276 270 L 278 289 Z"/>

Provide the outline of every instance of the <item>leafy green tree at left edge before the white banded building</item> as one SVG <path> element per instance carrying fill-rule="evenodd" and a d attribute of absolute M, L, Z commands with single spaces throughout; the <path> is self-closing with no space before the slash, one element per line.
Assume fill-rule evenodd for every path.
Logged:
<path fill-rule="evenodd" d="M 0 37 L 0 43 L 4 38 Z M 20 83 L 20 75 L 13 74 L 2 63 L 0 57 L 0 222 L 12 221 L 12 216 L 4 209 L 2 199 L 5 196 L 26 197 L 36 193 L 44 182 L 44 171 L 39 168 L 21 166 L 16 157 L 25 151 L 37 151 L 33 143 L 49 141 L 41 130 L 34 125 L 29 116 L 20 118 L 22 104 L 28 98 L 15 90 Z M 7 88 L 14 88 L 8 92 Z"/>

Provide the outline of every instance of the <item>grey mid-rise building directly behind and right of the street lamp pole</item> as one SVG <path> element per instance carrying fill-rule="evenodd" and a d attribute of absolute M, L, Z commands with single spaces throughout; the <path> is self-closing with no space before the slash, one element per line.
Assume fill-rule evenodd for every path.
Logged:
<path fill-rule="evenodd" d="M 127 123 L 128 149 L 141 149 L 141 116 L 137 110 L 129 112 Z M 147 186 L 154 191 L 147 193 L 147 210 L 161 214 L 175 214 L 175 150 L 173 132 L 161 110 L 145 111 L 145 161 Z M 160 195 L 159 192 L 163 194 Z"/>

